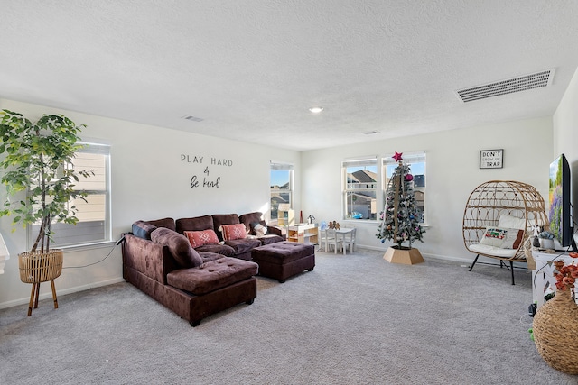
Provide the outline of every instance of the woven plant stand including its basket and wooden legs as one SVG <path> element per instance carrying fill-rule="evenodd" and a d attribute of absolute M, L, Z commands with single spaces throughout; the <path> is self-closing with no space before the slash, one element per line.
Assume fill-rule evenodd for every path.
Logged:
<path fill-rule="evenodd" d="M 30 293 L 30 302 L 28 303 L 28 316 L 33 314 L 33 306 L 34 308 L 38 308 L 40 284 L 49 280 L 51 281 L 54 308 L 58 308 L 54 280 L 61 275 L 62 260 L 63 253 L 58 249 L 51 250 L 50 252 L 22 252 L 18 254 L 20 280 L 22 280 L 23 283 L 33 284 L 33 289 Z"/>

